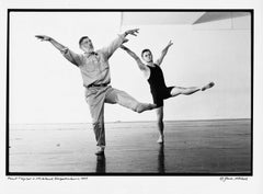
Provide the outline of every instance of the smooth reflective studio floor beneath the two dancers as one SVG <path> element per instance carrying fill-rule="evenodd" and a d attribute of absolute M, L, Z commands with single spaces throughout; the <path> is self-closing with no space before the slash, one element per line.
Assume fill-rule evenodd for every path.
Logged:
<path fill-rule="evenodd" d="M 9 172 L 52 174 L 250 174 L 251 119 L 106 123 L 96 157 L 91 124 L 11 125 Z"/>

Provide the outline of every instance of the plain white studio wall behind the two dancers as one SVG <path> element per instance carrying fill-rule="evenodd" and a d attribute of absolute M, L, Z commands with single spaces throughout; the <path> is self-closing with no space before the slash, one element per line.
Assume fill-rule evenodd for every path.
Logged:
<path fill-rule="evenodd" d="M 36 41 L 34 35 L 50 35 L 80 52 L 80 36 L 89 35 L 99 48 L 119 32 L 119 13 L 13 13 L 10 36 L 11 123 L 90 122 L 78 68 L 48 43 Z M 168 85 L 216 83 L 207 92 L 167 100 L 165 119 L 250 117 L 250 30 L 215 27 L 221 24 L 207 27 L 209 25 L 123 27 L 140 28 L 138 37 L 130 37 L 127 43 L 138 55 L 147 47 L 157 58 L 169 39 L 173 41 L 174 45 L 162 64 Z M 110 65 L 113 87 L 140 101 L 151 101 L 147 81 L 126 53 L 117 50 Z M 105 107 L 105 121 L 155 118 L 155 112 L 137 114 L 118 105 Z"/>

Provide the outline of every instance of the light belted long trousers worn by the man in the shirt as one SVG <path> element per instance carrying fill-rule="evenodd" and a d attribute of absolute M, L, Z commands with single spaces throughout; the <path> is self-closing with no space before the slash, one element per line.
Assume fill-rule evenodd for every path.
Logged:
<path fill-rule="evenodd" d="M 124 91 L 107 87 L 92 87 L 85 89 L 85 100 L 90 106 L 96 146 L 105 146 L 104 103 L 119 104 L 137 111 L 140 102 Z"/>

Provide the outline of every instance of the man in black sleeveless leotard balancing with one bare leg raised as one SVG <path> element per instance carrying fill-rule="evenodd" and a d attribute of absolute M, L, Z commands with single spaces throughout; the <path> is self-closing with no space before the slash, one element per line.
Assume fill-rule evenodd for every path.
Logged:
<path fill-rule="evenodd" d="M 208 84 L 198 88 L 198 87 L 190 87 L 190 88 L 182 88 L 182 87 L 167 87 L 162 70 L 160 65 L 168 53 L 170 46 L 172 46 L 172 42 L 170 41 L 169 44 L 164 47 L 161 53 L 161 57 L 153 62 L 152 54 L 150 49 L 144 49 L 141 52 L 141 58 L 146 61 L 147 65 L 142 64 L 140 58 L 132 52 L 126 46 L 121 46 L 124 50 L 126 50 L 138 64 L 139 69 L 142 71 L 145 78 L 148 80 L 150 84 L 150 91 L 152 94 L 152 99 L 155 104 L 157 104 L 157 126 L 159 130 L 159 138 L 157 142 L 162 144 L 164 141 L 163 135 L 163 100 L 169 99 L 171 96 L 176 96 L 179 94 L 193 94 L 197 91 L 205 91 L 214 87 L 214 82 L 209 82 Z"/>

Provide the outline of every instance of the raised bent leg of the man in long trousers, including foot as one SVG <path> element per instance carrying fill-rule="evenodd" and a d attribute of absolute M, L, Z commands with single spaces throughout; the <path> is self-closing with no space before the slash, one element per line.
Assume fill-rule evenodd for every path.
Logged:
<path fill-rule="evenodd" d="M 117 103 L 137 113 L 142 113 L 144 111 L 156 109 L 156 104 L 138 102 L 128 93 L 117 89 L 112 89 L 107 92 L 105 102 L 112 104 Z"/>

